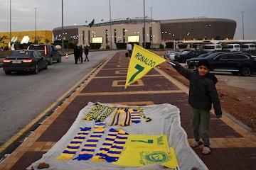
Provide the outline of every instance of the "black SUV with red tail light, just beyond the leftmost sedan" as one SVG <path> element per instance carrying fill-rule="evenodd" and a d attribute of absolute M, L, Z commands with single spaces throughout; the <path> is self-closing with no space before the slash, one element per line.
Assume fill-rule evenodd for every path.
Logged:
<path fill-rule="evenodd" d="M 50 44 L 39 44 L 39 45 L 29 45 L 27 50 L 38 50 L 41 54 L 46 57 L 49 65 L 53 64 L 53 61 L 61 62 L 60 52 L 56 49 L 54 45 Z"/>

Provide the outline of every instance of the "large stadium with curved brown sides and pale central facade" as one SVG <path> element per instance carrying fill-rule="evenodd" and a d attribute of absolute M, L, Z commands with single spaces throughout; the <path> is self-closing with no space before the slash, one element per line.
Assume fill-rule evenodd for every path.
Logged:
<path fill-rule="evenodd" d="M 225 18 L 126 18 L 92 26 L 54 28 L 53 37 L 54 40 L 68 40 L 83 46 L 101 43 L 103 49 L 114 49 L 119 42 L 137 42 L 139 45 L 150 42 L 151 47 L 159 47 L 174 40 L 233 40 L 235 28 L 236 22 Z"/>

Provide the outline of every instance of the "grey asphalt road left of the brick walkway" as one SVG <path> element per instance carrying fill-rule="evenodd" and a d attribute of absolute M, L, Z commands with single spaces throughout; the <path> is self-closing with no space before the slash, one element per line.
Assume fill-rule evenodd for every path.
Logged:
<path fill-rule="evenodd" d="M 0 145 L 58 101 L 83 77 L 114 51 L 90 52 L 90 62 L 75 64 L 74 56 L 63 57 L 38 74 L 14 73 L 0 70 Z"/>

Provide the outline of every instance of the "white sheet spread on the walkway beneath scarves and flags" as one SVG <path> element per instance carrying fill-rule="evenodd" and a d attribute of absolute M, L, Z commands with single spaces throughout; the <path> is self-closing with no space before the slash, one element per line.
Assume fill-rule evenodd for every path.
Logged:
<path fill-rule="evenodd" d="M 117 104 L 107 104 L 101 103 L 108 107 L 129 107 L 135 108 L 138 106 L 124 106 Z M 46 163 L 50 167 L 48 169 L 60 169 L 60 170 L 83 170 L 83 169 L 166 169 L 161 165 L 150 165 L 142 167 L 128 167 L 128 166 L 116 166 L 109 162 L 92 162 L 91 159 L 87 161 L 78 160 L 56 160 L 62 152 L 63 149 L 68 145 L 70 140 L 77 134 L 78 129 L 84 127 L 94 127 L 93 121 L 82 120 L 82 118 L 90 111 L 91 108 L 95 106 L 95 103 L 89 102 L 85 108 L 82 108 L 78 117 L 76 118 L 73 125 L 70 127 L 68 132 L 51 148 L 43 157 L 38 161 L 34 162 L 27 169 L 38 169 L 38 164 Z M 144 114 L 151 118 L 151 122 L 146 122 L 142 118 L 141 123 L 133 123 L 131 126 L 106 126 L 106 131 L 110 128 L 121 128 L 129 134 L 144 134 L 144 135 L 159 135 L 164 134 L 168 137 L 169 147 L 173 147 L 176 152 L 176 157 L 178 159 L 178 164 L 180 169 L 192 169 L 196 167 L 198 169 L 208 169 L 207 166 L 201 161 L 198 155 L 193 152 L 193 149 L 188 144 L 187 135 L 185 130 L 181 127 L 180 111 L 176 106 L 168 103 L 150 106 L 139 106 L 143 108 Z M 112 115 L 105 119 L 105 123 L 110 122 Z M 102 142 L 104 137 L 102 137 Z M 95 153 L 100 147 L 95 149 Z M 79 153 L 79 152 L 78 152 Z M 77 153 L 77 154 L 78 154 Z M 77 157 L 78 155 L 75 155 Z"/>

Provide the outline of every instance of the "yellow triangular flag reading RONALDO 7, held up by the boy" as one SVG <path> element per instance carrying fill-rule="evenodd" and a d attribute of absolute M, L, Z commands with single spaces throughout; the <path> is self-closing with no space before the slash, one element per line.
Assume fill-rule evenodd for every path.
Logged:
<path fill-rule="evenodd" d="M 124 88 L 127 89 L 127 86 L 142 79 L 151 69 L 165 61 L 163 57 L 155 55 L 153 52 L 134 44 Z"/>

